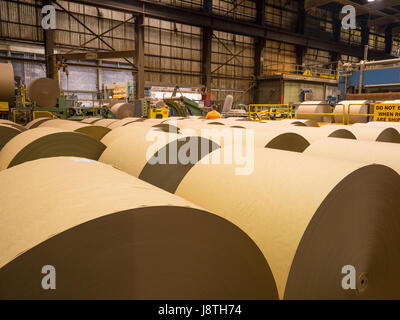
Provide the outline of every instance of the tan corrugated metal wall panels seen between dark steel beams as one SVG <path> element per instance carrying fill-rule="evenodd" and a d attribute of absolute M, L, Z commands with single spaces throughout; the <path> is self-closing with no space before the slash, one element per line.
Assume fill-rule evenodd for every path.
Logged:
<path fill-rule="evenodd" d="M 203 0 L 159 0 L 159 2 L 184 8 L 201 10 Z M 134 19 L 130 14 L 113 10 L 99 9 L 59 1 L 60 5 L 73 14 L 68 15 L 57 7 L 56 44 L 59 50 L 73 48 L 134 50 Z M 19 41 L 43 46 L 43 32 L 40 2 L 35 0 L 1 0 L 0 1 L 0 39 Z M 215 14 L 232 19 L 255 21 L 255 1 L 213 0 L 212 10 Z M 269 26 L 293 31 L 298 16 L 298 1 L 266 0 L 265 23 Z M 307 20 L 308 31 L 321 27 L 329 38 L 333 37 L 332 14 L 323 9 L 313 9 Z M 103 34 L 104 42 L 96 38 Z M 122 22 L 126 22 L 122 24 Z M 106 32 L 112 29 L 109 32 Z M 342 30 L 342 39 L 351 44 L 361 43 L 359 29 Z M 212 98 L 224 99 L 233 94 L 236 101 L 252 102 L 254 85 L 254 47 L 253 39 L 225 32 L 214 32 L 212 40 Z M 370 46 L 374 49 L 384 48 L 383 35 L 371 30 Z M 394 47 L 400 46 L 395 40 Z M 308 49 L 304 54 L 304 64 L 325 64 L 330 62 L 330 53 L 322 50 Z M 343 61 L 357 61 L 357 58 L 341 56 Z M 277 41 L 267 41 L 263 55 L 263 70 L 271 74 L 276 69 L 285 72 L 296 71 L 296 47 Z M 202 36 L 198 27 L 179 23 L 145 18 L 145 68 L 146 81 L 154 85 L 200 86 L 202 65 Z M 41 75 L 43 67 L 29 63 L 15 63 L 17 73 L 24 75 L 27 82 L 32 76 Z M 79 68 L 78 68 L 79 69 Z M 88 71 L 92 73 L 93 71 Z M 28 75 L 29 74 L 29 75 Z M 32 75 L 32 76 L 31 76 Z M 71 74 L 71 79 L 73 75 Z M 131 79 L 129 72 L 108 73 L 103 81 L 115 81 L 119 78 Z M 64 78 L 62 78 L 64 79 Z M 92 78 L 90 78 L 92 79 Z M 92 80 L 90 80 L 92 81 Z M 92 88 L 92 86 L 89 86 Z"/>

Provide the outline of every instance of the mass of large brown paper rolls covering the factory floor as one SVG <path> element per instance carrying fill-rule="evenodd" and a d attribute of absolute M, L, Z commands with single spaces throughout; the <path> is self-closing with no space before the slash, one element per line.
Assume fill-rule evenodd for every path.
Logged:
<path fill-rule="evenodd" d="M 400 298 L 400 126 L 85 122 L 0 124 L 0 298 Z M 246 174 L 201 161 L 230 148 L 204 129 L 246 128 Z M 151 161 L 180 149 L 195 161 Z"/>

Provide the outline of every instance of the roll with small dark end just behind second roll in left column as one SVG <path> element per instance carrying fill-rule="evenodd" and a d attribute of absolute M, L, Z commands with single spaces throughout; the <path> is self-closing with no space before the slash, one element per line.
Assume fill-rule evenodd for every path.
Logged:
<path fill-rule="evenodd" d="M 41 123 L 39 127 L 60 128 L 64 130 L 84 133 L 97 140 L 101 140 L 107 133 L 111 131 L 108 128 L 97 126 L 96 124 L 90 125 L 86 123 L 61 119 L 46 121 L 44 123 Z"/>

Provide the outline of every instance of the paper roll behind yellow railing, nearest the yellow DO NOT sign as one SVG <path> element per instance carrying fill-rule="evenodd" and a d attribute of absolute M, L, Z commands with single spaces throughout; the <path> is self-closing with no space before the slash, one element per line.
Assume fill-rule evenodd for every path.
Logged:
<path fill-rule="evenodd" d="M 349 109 L 350 109 L 350 114 L 352 114 L 352 116 L 348 115 Z M 334 118 L 336 123 L 343 124 L 343 113 L 344 113 L 344 124 L 365 123 L 368 121 L 368 116 L 358 116 L 358 114 L 368 114 L 368 101 L 366 100 L 341 101 L 336 105 L 333 113 L 335 114 Z"/>

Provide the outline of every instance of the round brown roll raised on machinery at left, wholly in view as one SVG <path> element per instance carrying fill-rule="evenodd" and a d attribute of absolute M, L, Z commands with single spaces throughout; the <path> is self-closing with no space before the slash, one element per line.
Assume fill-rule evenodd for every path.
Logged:
<path fill-rule="evenodd" d="M 57 98 L 60 96 L 60 87 L 54 79 L 36 79 L 28 87 L 28 96 L 31 101 L 36 102 L 37 106 L 52 108 L 57 104 Z"/>

